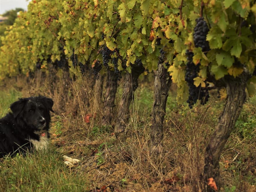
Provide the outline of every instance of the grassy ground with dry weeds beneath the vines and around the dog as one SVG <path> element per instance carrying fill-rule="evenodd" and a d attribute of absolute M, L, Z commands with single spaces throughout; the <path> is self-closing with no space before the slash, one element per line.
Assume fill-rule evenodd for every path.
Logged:
<path fill-rule="evenodd" d="M 93 106 L 86 107 L 82 103 L 82 91 L 88 90 L 86 84 L 74 82 L 72 87 L 76 87 L 76 92 L 70 89 L 71 94 L 64 101 L 61 101 L 61 91 L 49 91 L 47 82 L 44 86 L 34 87 L 34 92 L 28 88 L 21 92 L 3 90 L 0 114 L 5 114 L 10 103 L 18 97 L 27 97 L 28 93 L 38 95 L 38 92 L 53 98 L 56 113 L 52 114 L 49 150 L 0 160 L 0 189 L 104 191 L 106 186 L 107 191 L 202 191 L 205 187 L 201 179 L 205 147 L 225 101 L 219 101 L 212 92 L 205 106 L 195 105 L 190 110 L 186 103 L 177 105 L 175 91 L 170 91 L 163 127 L 164 153 L 157 159 L 150 154 L 153 81 L 150 82 L 144 81 L 135 92 L 125 143 L 113 136 L 113 127 L 98 125 L 100 112 L 96 119 L 90 119 L 90 123 L 83 121 L 84 114 L 94 113 Z M 63 90 L 60 84 L 58 90 Z M 121 93 L 122 87 L 119 87 L 117 103 Z M 90 102 L 93 103 L 93 98 Z M 244 104 L 236 131 L 223 150 L 220 159 L 223 186 L 220 191 L 256 190 L 255 104 L 256 96 Z M 69 169 L 61 154 L 80 159 L 81 163 Z"/>

